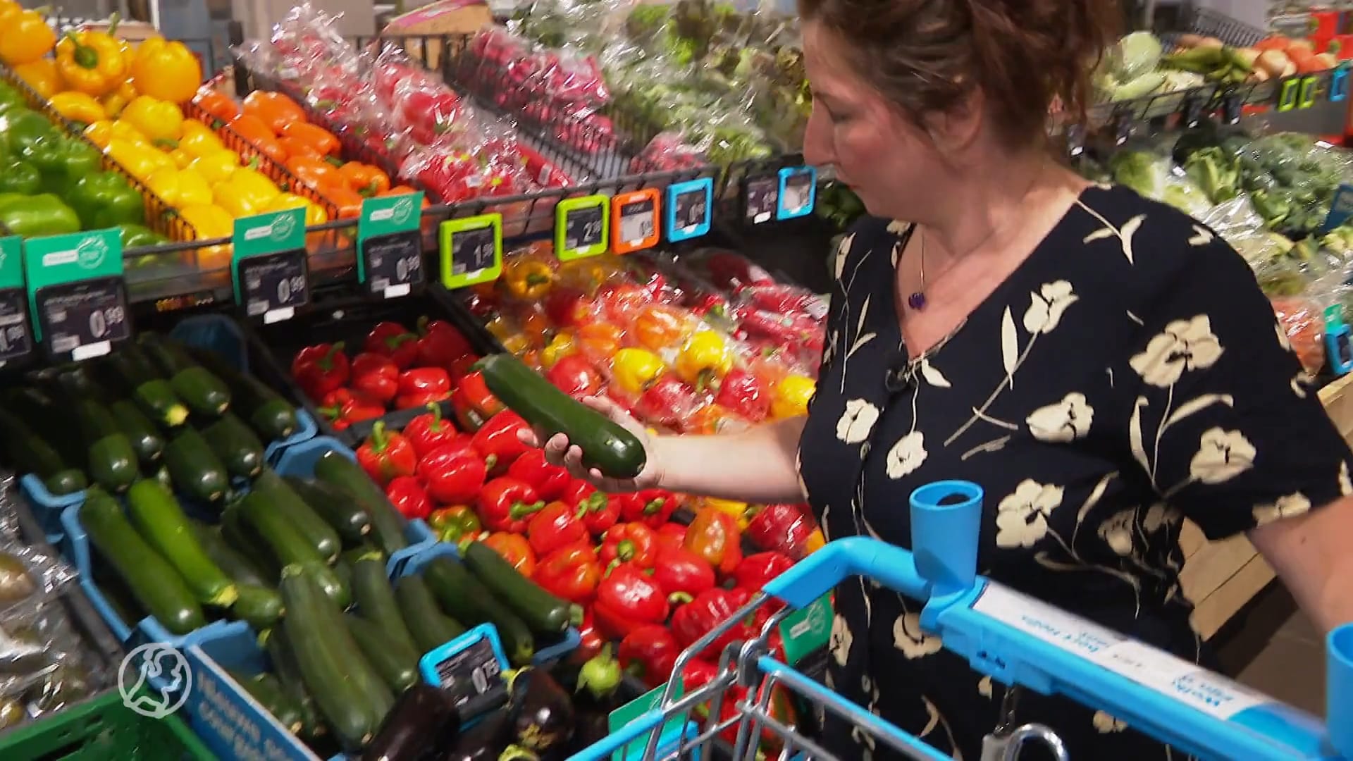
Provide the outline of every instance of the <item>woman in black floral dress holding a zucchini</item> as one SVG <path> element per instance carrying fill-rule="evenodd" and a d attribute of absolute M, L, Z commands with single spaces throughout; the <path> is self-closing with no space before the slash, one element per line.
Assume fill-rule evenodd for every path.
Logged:
<path fill-rule="evenodd" d="M 1246 534 L 1325 631 L 1353 620 L 1349 448 L 1246 263 L 1130 190 L 1092 186 L 1046 145 L 1054 102 L 1084 115 L 1109 0 L 800 0 L 810 164 L 871 218 L 836 253 L 806 418 L 643 437 L 632 482 L 741 501 L 806 496 L 828 539 L 908 547 L 908 496 L 986 493 L 978 571 L 1207 665 L 1180 590 L 1180 525 Z M 827 684 L 943 753 L 980 757 L 1004 687 L 921 631 L 920 607 L 836 590 Z M 886 674 L 886 678 L 882 677 Z M 1114 716 L 1024 692 L 1073 758 L 1170 758 Z M 881 758 L 851 726 L 842 758 Z M 1174 753 L 1181 758 L 1183 754 Z"/>

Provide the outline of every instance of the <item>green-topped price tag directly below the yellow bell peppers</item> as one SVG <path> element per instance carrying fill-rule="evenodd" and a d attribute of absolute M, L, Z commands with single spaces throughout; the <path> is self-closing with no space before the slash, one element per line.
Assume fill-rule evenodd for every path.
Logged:
<path fill-rule="evenodd" d="M 306 211 L 288 209 L 235 219 L 230 274 L 235 303 L 264 325 L 291 320 L 308 306 Z"/>

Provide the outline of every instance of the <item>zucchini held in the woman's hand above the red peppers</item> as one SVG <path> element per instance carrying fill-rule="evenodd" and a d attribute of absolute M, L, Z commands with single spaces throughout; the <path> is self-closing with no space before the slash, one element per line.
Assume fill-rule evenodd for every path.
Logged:
<path fill-rule="evenodd" d="M 566 433 L 583 452 L 583 464 L 612 478 L 633 478 L 648 454 L 637 436 L 618 422 L 570 397 L 544 375 L 510 353 L 488 355 L 475 363 L 488 390 L 526 422 L 547 432 Z"/>

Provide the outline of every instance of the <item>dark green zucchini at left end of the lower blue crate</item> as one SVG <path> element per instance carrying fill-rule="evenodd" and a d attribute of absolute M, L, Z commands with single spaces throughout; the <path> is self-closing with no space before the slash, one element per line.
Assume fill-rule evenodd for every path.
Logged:
<path fill-rule="evenodd" d="M 91 486 L 78 516 L 99 555 L 116 570 L 137 603 L 166 630 L 188 634 L 207 626 L 188 582 L 137 534 L 107 492 Z"/>

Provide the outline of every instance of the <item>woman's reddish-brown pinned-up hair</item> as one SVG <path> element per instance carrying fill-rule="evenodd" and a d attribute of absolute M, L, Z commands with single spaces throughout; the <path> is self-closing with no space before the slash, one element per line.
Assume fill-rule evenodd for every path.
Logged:
<path fill-rule="evenodd" d="M 798 0 L 798 12 L 913 119 L 980 88 L 1009 146 L 1043 139 L 1054 103 L 1084 119 L 1122 22 L 1116 0 Z"/>

